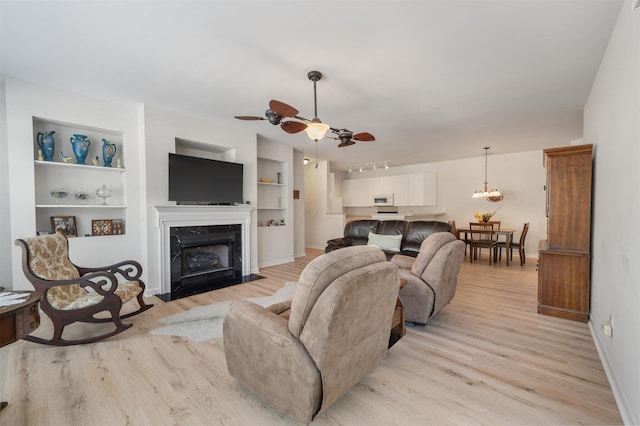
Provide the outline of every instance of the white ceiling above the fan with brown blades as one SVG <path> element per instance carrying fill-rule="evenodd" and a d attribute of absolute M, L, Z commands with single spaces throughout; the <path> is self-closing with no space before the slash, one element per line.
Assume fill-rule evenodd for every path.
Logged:
<path fill-rule="evenodd" d="M 315 158 L 270 99 L 376 141 L 337 148 L 338 168 L 444 161 L 566 145 L 622 0 L 9 2 L 5 76 L 144 102 L 252 129 Z"/>

